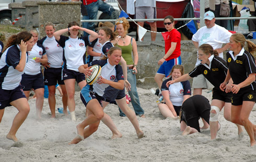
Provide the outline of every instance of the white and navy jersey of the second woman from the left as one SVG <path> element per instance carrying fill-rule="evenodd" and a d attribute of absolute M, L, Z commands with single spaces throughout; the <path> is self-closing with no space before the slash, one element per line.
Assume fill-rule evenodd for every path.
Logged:
<path fill-rule="evenodd" d="M 28 62 L 25 67 L 25 73 L 29 75 L 36 75 L 41 72 L 41 63 L 37 63 L 34 59 L 42 58 L 45 55 L 44 47 L 41 44 L 34 44 L 32 50 L 28 52 Z"/>

